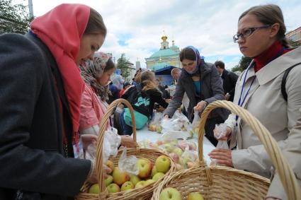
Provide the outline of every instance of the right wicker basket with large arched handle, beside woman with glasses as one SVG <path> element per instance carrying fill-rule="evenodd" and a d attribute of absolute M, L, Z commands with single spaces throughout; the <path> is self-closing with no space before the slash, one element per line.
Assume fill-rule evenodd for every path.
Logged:
<path fill-rule="evenodd" d="M 225 107 L 232 113 L 242 117 L 254 130 L 266 148 L 283 183 L 288 199 L 300 199 L 300 187 L 297 184 L 293 170 L 288 161 L 283 157 L 276 141 L 263 127 L 258 119 L 232 102 L 212 102 L 204 110 L 200 121 L 200 134 L 198 139 L 199 165 L 188 170 L 178 171 L 166 177 L 159 187 L 155 189 L 152 200 L 158 200 L 161 190 L 165 187 L 173 187 L 181 192 L 183 199 L 191 192 L 200 192 L 205 199 L 264 199 L 270 185 L 270 181 L 251 172 L 244 172 L 230 167 L 212 165 L 207 167 L 203 160 L 203 136 L 204 126 L 208 114 L 217 107 Z"/>

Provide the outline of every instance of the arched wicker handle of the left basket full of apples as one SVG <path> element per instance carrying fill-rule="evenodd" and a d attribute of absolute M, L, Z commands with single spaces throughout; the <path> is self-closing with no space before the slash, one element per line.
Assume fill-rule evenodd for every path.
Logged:
<path fill-rule="evenodd" d="M 120 103 L 125 104 L 129 110 L 132 117 L 132 133 L 133 133 L 133 140 L 137 142 L 136 139 L 136 122 L 135 122 L 135 116 L 134 116 L 134 110 L 132 109 L 132 105 L 130 105 L 130 102 L 128 102 L 125 99 L 118 99 L 110 103 L 108 106 L 108 109 L 106 111 L 106 114 L 103 115 L 103 118 L 101 119 L 101 122 L 99 124 L 99 134 L 97 139 L 97 150 L 96 150 L 96 174 L 98 177 L 98 184 L 99 184 L 99 196 L 101 197 L 101 193 L 106 191 L 106 184 L 104 183 L 104 177 L 103 177 L 103 139 L 104 139 L 104 133 L 107 129 L 108 119 L 110 118 L 110 115 L 114 108 L 118 106 Z M 101 199 L 101 198 L 100 198 Z"/>

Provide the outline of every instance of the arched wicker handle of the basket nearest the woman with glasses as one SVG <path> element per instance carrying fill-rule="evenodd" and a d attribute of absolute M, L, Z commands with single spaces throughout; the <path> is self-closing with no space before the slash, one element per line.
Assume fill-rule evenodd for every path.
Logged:
<path fill-rule="evenodd" d="M 200 133 L 198 138 L 198 155 L 200 162 L 203 162 L 203 136 L 205 134 L 205 122 L 208 118 L 208 114 L 217 107 L 227 108 L 233 114 L 237 114 L 237 116 L 241 117 L 245 123 L 249 124 L 256 136 L 259 137 L 261 143 L 263 143 L 263 146 L 266 148 L 273 165 L 276 167 L 285 192 L 288 194 L 288 199 L 297 199 L 297 196 L 300 197 L 300 186 L 297 183 L 293 170 L 290 168 L 290 165 L 288 165 L 288 160 L 286 160 L 286 158 L 283 156 L 283 153 L 280 151 L 278 143 L 275 141 L 275 139 L 273 139 L 269 131 L 266 129 L 266 127 L 263 127 L 258 119 L 253 117 L 249 111 L 239 107 L 238 105 L 235 105 L 233 102 L 217 100 L 210 103 L 210 105 L 208 105 L 203 111 L 200 118 Z"/>

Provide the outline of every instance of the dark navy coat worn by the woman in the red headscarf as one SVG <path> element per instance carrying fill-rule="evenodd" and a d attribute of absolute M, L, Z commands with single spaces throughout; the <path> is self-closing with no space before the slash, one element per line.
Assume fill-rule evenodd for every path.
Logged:
<path fill-rule="evenodd" d="M 0 199 L 13 199 L 18 189 L 30 199 L 76 195 L 91 161 L 64 158 L 62 130 L 70 143 L 72 121 L 49 49 L 30 34 L 0 35 L 0 71 Z"/>

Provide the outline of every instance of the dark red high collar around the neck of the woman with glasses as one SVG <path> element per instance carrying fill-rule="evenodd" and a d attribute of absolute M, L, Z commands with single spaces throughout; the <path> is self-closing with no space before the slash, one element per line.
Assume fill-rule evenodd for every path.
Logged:
<path fill-rule="evenodd" d="M 261 70 L 263 66 L 266 66 L 269 62 L 273 61 L 273 59 L 276 59 L 281 55 L 290 51 L 290 49 L 285 48 L 283 49 L 283 51 L 282 49 L 283 49 L 282 43 L 279 40 L 276 40 L 276 42 L 274 42 L 273 45 L 271 45 L 271 47 L 268 47 L 268 49 L 266 49 L 264 52 L 254 57 L 254 61 L 255 61 L 254 71 L 257 72 Z"/>

